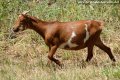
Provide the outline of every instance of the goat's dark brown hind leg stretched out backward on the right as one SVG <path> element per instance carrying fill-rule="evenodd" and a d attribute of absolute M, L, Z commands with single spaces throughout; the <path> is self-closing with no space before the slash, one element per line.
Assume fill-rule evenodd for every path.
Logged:
<path fill-rule="evenodd" d="M 97 47 L 99 47 L 100 49 L 102 49 L 103 51 L 105 51 L 113 62 L 116 61 L 112 52 L 111 52 L 111 49 L 109 47 L 107 47 L 106 45 L 104 45 L 100 38 L 97 40 L 95 45 Z"/>

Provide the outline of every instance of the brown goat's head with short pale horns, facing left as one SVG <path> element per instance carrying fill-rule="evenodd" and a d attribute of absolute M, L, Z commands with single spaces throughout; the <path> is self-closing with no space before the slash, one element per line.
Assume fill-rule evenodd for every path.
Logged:
<path fill-rule="evenodd" d="M 27 13 L 28 11 L 24 11 L 22 14 L 18 16 L 18 19 L 15 21 L 15 25 L 13 27 L 14 32 L 23 31 L 28 28 L 27 25 L 28 17 L 26 15 Z"/>

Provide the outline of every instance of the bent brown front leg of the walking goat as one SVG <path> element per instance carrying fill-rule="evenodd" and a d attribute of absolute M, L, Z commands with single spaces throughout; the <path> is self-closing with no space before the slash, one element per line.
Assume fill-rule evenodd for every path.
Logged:
<path fill-rule="evenodd" d="M 55 59 L 53 56 L 57 50 L 58 46 L 57 45 L 54 45 L 52 47 L 50 47 L 49 49 L 49 53 L 48 53 L 48 58 L 51 60 L 51 61 L 54 61 L 57 65 L 61 66 L 61 63 L 59 60 Z"/>

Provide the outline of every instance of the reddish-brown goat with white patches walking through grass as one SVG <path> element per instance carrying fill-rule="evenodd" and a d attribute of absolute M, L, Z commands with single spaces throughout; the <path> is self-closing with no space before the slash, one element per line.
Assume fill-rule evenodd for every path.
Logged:
<path fill-rule="evenodd" d="M 66 50 L 80 50 L 88 48 L 86 61 L 93 57 L 93 47 L 105 51 L 110 59 L 115 62 L 111 49 L 103 44 L 100 38 L 103 21 L 97 20 L 80 20 L 74 22 L 46 22 L 36 17 L 27 15 L 23 12 L 19 15 L 13 27 L 14 32 L 32 29 L 42 36 L 46 45 L 49 47 L 49 61 L 54 61 L 61 66 L 61 62 L 53 56 L 57 48 Z"/>

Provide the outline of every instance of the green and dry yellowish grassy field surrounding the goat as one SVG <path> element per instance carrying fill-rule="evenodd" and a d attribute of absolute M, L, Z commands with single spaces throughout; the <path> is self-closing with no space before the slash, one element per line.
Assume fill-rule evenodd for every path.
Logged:
<path fill-rule="evenodd" d="M 80 4 L 75 0 L 54 3 L 53 0 L 48 5 L 48 2 L 0 0 L 0 80 L 120 80 L 120 4 Z M 101 37 L 112 49 L 116 65 L 95 47 L 89 63 L 84 62 L 86 49 L 58 49 L 56 57 L 64 64 L 63 68 L 54 63 L 46 66 L 48 47 L 36 32 L 26 30 L 13 39 L 9 36 L 14 21 L 24 10 L 45 21 L 105 21 Z"/>

